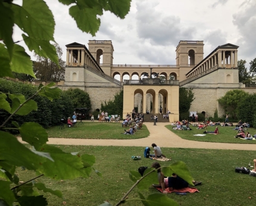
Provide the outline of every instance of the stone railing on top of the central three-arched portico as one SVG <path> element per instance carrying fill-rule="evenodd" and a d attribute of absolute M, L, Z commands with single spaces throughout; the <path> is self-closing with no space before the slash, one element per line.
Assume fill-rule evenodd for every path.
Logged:
<path fill-rule="evenodd" d="M 162 79 L 140 79 L 140 80 L 124 80 L 124 85 L 141 84 L 141 85 L 179 85 L 178 80 L 162 80 Z"/>

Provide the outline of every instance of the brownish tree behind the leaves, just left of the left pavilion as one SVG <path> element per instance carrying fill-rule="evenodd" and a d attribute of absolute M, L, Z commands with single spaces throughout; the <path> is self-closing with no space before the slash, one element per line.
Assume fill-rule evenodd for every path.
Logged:
<path fill-rule="evenodd" d="M 65 77 L 65 61 L 62 60 L 63 51 L 58 44 L 54 44 L 58 56 L 58 64 L 46 57 L 40 57 L 34 53 L 36 61 L 34 70 L 37 80 L 41 81 L 59 81 Z"/>

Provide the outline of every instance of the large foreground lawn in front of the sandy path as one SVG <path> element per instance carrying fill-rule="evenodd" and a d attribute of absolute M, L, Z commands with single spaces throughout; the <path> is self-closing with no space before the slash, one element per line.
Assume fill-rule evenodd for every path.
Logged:
<path fill-rule="evenodd" d="M 103 178 L 92 173 L 88 179 L 54 181 L 46 177 L 39 178 L 46 186 L 61 190 L 64 199 L 47 194 L 49 205 L 66 206 L 96 206 L 103 201 L 110 201 L 115 205 L 129 190 L 133 182 L 129 179 L 130 170 L 138 170 L 140 166 L 150 166 L 153 161 L 143 158 L 132 160 L 131 156 L 143 156 L 144 147 L 104 147 L 104 146 L 58 146 L 66 152 L 82 151 L 96 157 L 94 167 L 101 171 Z M 197 186 L 200 193 L 179 196 L 167 194 L 180 205 L 256 205 L 255 178 L 249 175 L 235 173 L 235 167 L 247 166 L 254 151 L 239 150 L 212 150 L 212 149 L 183 149 L 161 148 L 163 153 L 172 158 L 171 162 L 160 162 L 161 165 L 170 165 L 176 161 L 184 161 L 189 167 L 195 180 L 202 181 Z M 20 181 L 26 181 L 36 175 L 31 171 L 18 171 Z M 138 189 L 128 195 L 128 199 L 138 198 Z M 157 193 L 154 187 L 142 191 L 147 196 Z M 41 193 L 41 192 L 40 192 Z M 140 201 L 129 201 L 124 205 L 141 206 Z"/>

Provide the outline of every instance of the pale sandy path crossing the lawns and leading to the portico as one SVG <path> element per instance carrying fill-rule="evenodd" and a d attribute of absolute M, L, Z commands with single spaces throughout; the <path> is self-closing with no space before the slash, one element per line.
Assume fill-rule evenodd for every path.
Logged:
<path fill-rule="evenodd" d="M 237 149 L 237 150 L 256 150 L 254 144 L 231 144 L 231 143 L 213 143 L 197 142 L 184 140 L 174 134 L 165 125 L 170 123 L 144 123 L 150 135 L 143 139 L 133 140 L 99 140 L 99 139 L 67 139 L 67 138 L 49 138 L 48 144 L 54 145 L 94 145 L 94 146 L 150 146 L 156 143 L 161 147 L 181 147 L 181 148 L 205 148 L 205 149 Z M 21 141 L 21 138 L 19 138 Z"/>

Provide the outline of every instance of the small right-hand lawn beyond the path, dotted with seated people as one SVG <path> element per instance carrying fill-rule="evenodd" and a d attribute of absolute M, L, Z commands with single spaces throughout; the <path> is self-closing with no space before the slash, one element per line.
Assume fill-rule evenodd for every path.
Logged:
<path fill-rule="evenodd" d="M 165 126 L 173 133 L 180 136 L 180 138 L 185 140 L 193 140 L 200 142 L 221 142 L 221 143 L 238 143 L 238 144 L 256 144 L 256 141 L 251 140 L 240 140 L 239 138 L 234 138 L 237 134 L 237 130 L 233 130 L 235 127 L 218 127 L 219 134 L 206 134 L 206 136 L 193 136 L 194 134 L 203 134 L 204 129 L 197 129 L 196 127 L 190 127 L 192 130 L 184 131 L 184 130 L 173 130 L 172 125 Z M 215 127 L 207 127 L 207 131 L 214 131 Z M 256 133 L 256 129 L 248 128 L 245 132 L 250 132 L 251 135 Z"/>

